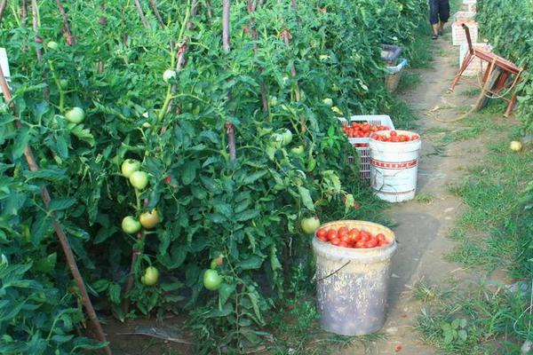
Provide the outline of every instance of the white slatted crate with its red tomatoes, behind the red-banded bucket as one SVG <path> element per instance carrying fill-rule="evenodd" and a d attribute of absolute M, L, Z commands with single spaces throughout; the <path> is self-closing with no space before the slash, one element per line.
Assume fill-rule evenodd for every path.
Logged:
<path fill-rule="evenodd" d="M 354 115 L 350 120 L 339 117 L 348 141 L 355 147 L 359 155 L 360 177 L 366 182 L 370 181 L 370 135 L 382 130 L 394 130 L 391 117 L 386 114 Z M 355 163 L 355 156 L 348 157 L 348 163 Z"/>

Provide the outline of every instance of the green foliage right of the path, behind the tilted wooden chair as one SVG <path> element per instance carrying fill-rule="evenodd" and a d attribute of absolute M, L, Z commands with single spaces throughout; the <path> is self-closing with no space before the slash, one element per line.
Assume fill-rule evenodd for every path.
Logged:
<path fill-rule="evenodd" d="M 483 0 L 478 4 L 481 32 L 497 54 L 521 67 L 533 62 L 533 4 L 522 0 Z M 510 21 L 509 19 L 514 19 Z M 525 130 L 533 131 L 533 74 L 527 70 L 519 86 L 519 117 Z"/>

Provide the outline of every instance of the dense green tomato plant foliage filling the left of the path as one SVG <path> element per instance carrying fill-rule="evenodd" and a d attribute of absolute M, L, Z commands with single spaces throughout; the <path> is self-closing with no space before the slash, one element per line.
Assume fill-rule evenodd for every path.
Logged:
<path fill-rule="evenodd" d="M 18 115 L 0 114 L 0 250 L 7 264 L 25 268 L 20 280 L 33 285 L 24 287 L 31 294 L 17 291 L 4 306 L 21 304 L 20 312 L 29 312 L 24 300 L 35 290 L 52 296 L 31 296 L 42 318 L 38 325 L 36 317 L 9 313 L 0 328 L 8 343 L 35 338 L 44 353 L 89 346 L 72 332 L 82 312 L 59 257 L 54 211 L 100 310 L 113 309 L 121 319 L 187 310 L 206 351 L 252 346 L 267 336 L 265 314 L 286 296 L 288 271 L 303 264 L 310 272 L 299 219 L 362 217 L 370 208 L 355 210 L 344 201 L 373 203 L 357 167 L 345 164 L 354 148 L 322 99 L 332 98 L 346 115 L 393 109 L 379 45 L 400 43 L 409 52 L 426 1 L 314 0 L 298 4 L 298 14 L 290 2 L 267 2 L 253 14 L 257 40 L 245 30 L 251 16 L 238 2 L 230 53 L 220 45 L 219 7 L 211 13 L 201 2 L 203 11 L 187 29 L 187 2 L 163 2 L 159 11 L 167 24 L 161 29 L 148 8 L 149 27 L 143 28 L 131 2 L 112 3 L 105 9 L 99 1 L 66 4 L 76 35 L 70 47 L 60 38 L 53 2 L 42 2 L 39 35 L 44 43 L 60 43 L 57 50 L 36 43 L 36 34 L 13 17 L 18 11 L 2 23 Z M 280 37 L 284 30 L 290 46 Z M 163 82 L 163 71 L 176 60 L 169 43 L 187 38 L 186 67 Z M 36 49 L 44 49 L 40 62 Z M 271 103 L 267 111 L 262 86 Z M 73 106 L 84 109 L 84 122 L 65 119 Z M 235 126 L 235 162 L 227 153 L 227 122 Z M 285 130 L 293 134 L 286 146 L 276 140 Z M 305 154 L 290 152 L 300 145 Z M 41 170 L 28 170 L 25 146 Z M 142 192 L 120 175 L 127 158 L 142 162 L 149 175 Z M 44 185 L 52 194 L 50 209 L 41 201 Z M 155 229 L 140 238 L 122 232 L 123 217 L 154 208 L 162 217 Z M 126 295 L 132 250 L 140 256 Z M 203 271 L 220 254 L 224 284 L 210 292 Z M 155 287 L 140 282 L 148 265 L 162 275 Z M 121 311 L 125 297 L 135 306 L 130 314 Z M 73 304 L 76 312 L 67 311 Z M 31 331 L 18 330 L 21 319 Z"/>

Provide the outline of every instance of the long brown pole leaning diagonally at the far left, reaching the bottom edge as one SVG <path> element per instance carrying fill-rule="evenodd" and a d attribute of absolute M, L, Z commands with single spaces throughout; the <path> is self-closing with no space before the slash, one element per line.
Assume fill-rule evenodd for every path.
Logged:
<path fill-rule="evenodd" d="M 12 102 L 11 91 L 9 90 L 9 87 L 7 86 L 7 83 L 5 81 L 4 71 L 2 70 L 2 67 L 0 67 L 0 87 L 2 87 L 2 92 L 4 93 L 5 101 L 11 102 L 13 114 L 16 115 L 17 113 L 15 112 L 15 106 Z M 22 127 L 22 123 L 20 123 L 19 120 L 16 120 L 15 124 L 17 126 L 17 129 L 20 129 Z M 30 146 L 26 146 L 24 148 L 24 155 L 26 157 L 26 161 L 28 162 L 29 170 L 39 170 Z M 41 196 L 43 198 L 44 206 L 46 207 L 46 209 L 48 209 L 52 199 L 50 197 L 50 193 L 48 193 L 48 189 L 46 188 L 46 186 L 43 186 L 41 190 Z M 92 326 L 96 330 L 96 334 L 99 338 L 99 341 L 102 343 L 107 343 L 106 335 L 104 334 L 104 330 L 102 329 L 102 326 L 99 323 L 99 319 L 96 315 L 96 312 L 94 312 L 94 308 L 91 304 L 91 299 L 89 298 L 89 294 L 87 293 L 87 288 L 85 288 L 84 278 L 82 277 L 82 274 L 80 273 L 77 267 L 76 259 L 72 252 L 72 249 L 70 248 L 70 244 L 68 243 L 67 234 L 65 234 L 63 228 L 58 222 L 56 218 L 56 213 L 52 211 L 51 216 L 53 229 L 57 234 L 58 239 L 60 240 L 61 247 L 63 248 L 63 253 L 67 258 L 68 267 L 70 268 L 70 272 L 72 272 L 74 280 L 76 281 L 76 285 L 80 290 L 80 293 L 82 294 L 82 302 L 84 304 L 85 311 L 87 312 L 87 315 L 91 320 Z M 109 346 L 106 345 L 104 347 L 104 351 L 106 351 L 107 355 L 111 355 L 111 349 L 109 349 Z"/>

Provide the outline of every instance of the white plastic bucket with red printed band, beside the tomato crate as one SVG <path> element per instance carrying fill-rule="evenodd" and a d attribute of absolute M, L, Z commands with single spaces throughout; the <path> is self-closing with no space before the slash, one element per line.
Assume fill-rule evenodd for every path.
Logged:
<path fill-rule="evenodd" d="M 415 134 L 406 130 L 396 130 L 396 132 L 398 135 Z M 388 132 L 376 134 L 388 134 Z M 421 146 L 419 138 L 396 143 L 370 138 L 370 186 L 379 199 L 402 202 L 415 197 Z"/>

